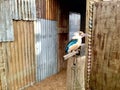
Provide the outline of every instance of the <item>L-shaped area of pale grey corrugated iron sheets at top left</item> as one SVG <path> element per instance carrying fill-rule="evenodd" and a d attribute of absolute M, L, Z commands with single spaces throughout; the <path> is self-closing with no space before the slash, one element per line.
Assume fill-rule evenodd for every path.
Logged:
<path fill-rule="evenodd" d="M 13 19 L 36 20 L 35 0 L 0 0 L 0 42 L 14 40 Z"/>

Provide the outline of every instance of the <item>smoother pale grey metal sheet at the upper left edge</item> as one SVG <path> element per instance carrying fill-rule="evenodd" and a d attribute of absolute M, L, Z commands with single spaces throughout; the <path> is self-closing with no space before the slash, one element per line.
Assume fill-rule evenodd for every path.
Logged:
<path fill-rule="evenodd" d="M 11 2 L 0 0 L 0 42 L 13 40 Z"/>

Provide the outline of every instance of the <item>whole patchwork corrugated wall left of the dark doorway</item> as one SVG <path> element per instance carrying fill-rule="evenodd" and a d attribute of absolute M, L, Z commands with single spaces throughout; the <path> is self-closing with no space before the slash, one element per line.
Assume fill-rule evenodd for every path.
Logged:
<path fill-rule="evenodd" d="M 0 0 L 3 90 L 24 89 L 57 73 L 58 9 L 56 0 Z"/>

